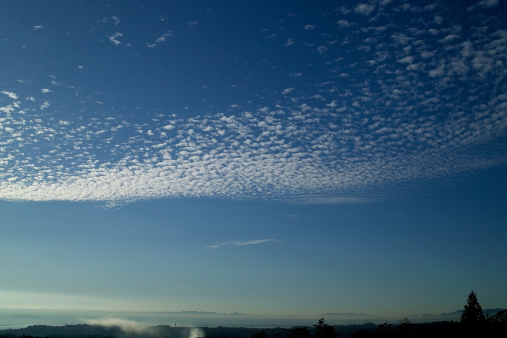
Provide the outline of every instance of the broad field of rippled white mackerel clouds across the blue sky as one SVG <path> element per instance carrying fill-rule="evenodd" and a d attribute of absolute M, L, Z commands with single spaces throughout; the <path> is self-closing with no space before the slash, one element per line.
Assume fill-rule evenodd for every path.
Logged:
<path fill-rule="evenodd" d="M 494 1 L 449 6 L 350 4 L 325 18 L 285 13 L 273 23 L 278 29 L 249 27 L 260 52 L 242 66 L 246 77 L 223 85 L 232 92 L 214 101 L 206 91 L 221 90 L 224 81 L 215 69 L 207 79 L 185 79 L 199 92 L 178 106 L 154 102 L 166 95 L 157 86 L 137 97 L 143 102 L 137 106 L 129 93 L 120 96 L 121 85 L 106 92 L 66 74 L 63 64 L 59 73 L 12 72 L 0 85 L 0 198 L 341 203 L 504 165 L 505 19 Z M 91 20 L 90 46 L 116 58 L 137 53 L 149 64 L 173 48 L 178 34 L 191 36 L 207 24 L 173 27 L 164 15 L 154 16 L 163 29 L 152 36 L 131 34 L 134 23 L 120 14 Z M 26 34 L 51 33 L 49 24 L 34 24 Z M 24 43 L 5 44 L 12 51 Z M 283 64 L 291 55 L 301 62 Z M 194 61 L 189 55 L 189 67 Z M 37 60 L 24 67 L 32 64 Z M 156 64 L 146 67 L 165 76 Z M 81 59 L 71 68 L 92 71 Z M 276 81 L 256 80 L 257 72 Z M 122 73 L 108 77 L 130 81 Z M 142 85 L 156 82 L 149 74 L 143 79 Z M 249 99 L 235 94 L 246 87 Z"/>

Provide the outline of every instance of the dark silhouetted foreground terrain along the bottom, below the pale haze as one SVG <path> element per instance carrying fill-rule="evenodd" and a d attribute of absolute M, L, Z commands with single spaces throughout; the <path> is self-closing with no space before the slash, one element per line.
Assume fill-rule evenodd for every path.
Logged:
<path fill-rule="evenodd" d="M 197 331 L 196 331 L 197 330 Z M 189 338 L 198 333 L 206 338 L 345 338 L 345 337 L 507 337 L 507 322 L 488 321 L 477 325 L 457 322 L 362 325 L 327 325 L 284 328 L 139 326 L 122 329 L 99 325 L 32 325 L 0 330 L 0 338 Z"/>

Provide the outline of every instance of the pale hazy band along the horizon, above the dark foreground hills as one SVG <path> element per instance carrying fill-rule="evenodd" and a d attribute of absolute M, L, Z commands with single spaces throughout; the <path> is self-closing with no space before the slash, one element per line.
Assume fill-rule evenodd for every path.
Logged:
<path fill-rule="evenodd" d="M 485 309 L 487 311 L 487 309 Z M 293 327 L 311 326 L 319 318 L 330 325 L 397 323 L 403 318 L 413 322 L 459 320 L 460 313 L 411 314 L 403 316 L 375 316 L 371 314 L 318 314 L 318 315 L 251 315 L 219 314 L 211 312 L 107 312 L 90 309 L 44 308 L 38 310 L 0 309 L 0 329 L 17 329 L 30 325 L 76 325 L 89 324 L 103 327 L 120 327 L 124 331 L 141 329 L 143 326 L 168 325 L 177 327 Z"/>

